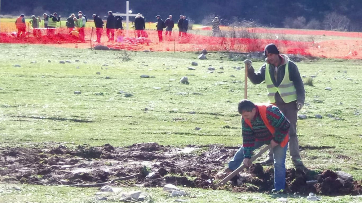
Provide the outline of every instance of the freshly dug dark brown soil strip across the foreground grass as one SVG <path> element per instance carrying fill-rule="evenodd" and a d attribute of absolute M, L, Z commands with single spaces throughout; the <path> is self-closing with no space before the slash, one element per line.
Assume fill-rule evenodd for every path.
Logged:
<path fill-rule="evenodd" d="M 190 146 L 191 147 L 191 146 Z M 180 148 L 157 143 L 138 143 L 128 147 L 65 146 L 48 148 L 0 148 L 0 181 L 37 185 L 69 185 L 101 183 L 118 177 L 139 174 L 136 179 L 121 181 L 122 185 L 144 184 L 160 187 L 171 183 L 176 186 L 211 189 L 210 179 L 223 170 L 237 147 L 220 145 L 202 146 L 203 153 L 181 153 Z M 206 150 L 204 150 L 206 148 Z M 147 175 L 148 172 L 152 172 Z M 253 164 L 221 189 L 230 191 L 270 192 L 273 189 L 274 170 L 264 170 Z M 239 179 L 239 180 L 238 180 Z M 311 185 L 307 181 L 316 180 Z M 309 183 L 309 182 L 308 182 Z M 286 192 L 321 195 L 358 195 L 361 181 L 341 183 L 331 170 L 322 173 L 287 169 Z M 115 184 L 118 184 L 116 181 Z"/>

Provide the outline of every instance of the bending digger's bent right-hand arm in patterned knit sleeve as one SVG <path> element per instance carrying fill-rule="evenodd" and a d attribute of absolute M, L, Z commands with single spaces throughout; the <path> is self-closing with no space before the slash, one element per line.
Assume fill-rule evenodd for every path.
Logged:
<path fill-rule="evenodd" d="M 290 122 L 278 107 L 272 105 L 266 107 L 266 118 L 269 124 L 275 128 L 273 140 L 281 143 L 289 132 Z"/>

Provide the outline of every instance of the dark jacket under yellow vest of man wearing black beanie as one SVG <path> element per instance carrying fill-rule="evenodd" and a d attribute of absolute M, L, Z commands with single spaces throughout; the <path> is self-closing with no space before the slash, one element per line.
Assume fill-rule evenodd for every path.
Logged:
<path fill-rule="evenodd" d="M 273 81 L 273 84 L 275 87 L 278 87 L 280 83 L 282 82 L 285 74 L 285 64 L 286 61 L 289 59 L 286 55 L 279 55 L 281 59 L 283 59 L 282 64 L 278 67 L 278 70 L 276 72 L 277 77 L 275 77 L 275 66 L 269 64 L 269 73 L 271 77 L 271 81 Z M 265 65 L 262 65 L 260 70 L 257 73 L 254 73 L 253 68 L 248 69 L 248 78 L 250 81 L 255 84 L 260 84 L 261 82 L 265 81 Z M 297 101 L 304 104 L 305 99 L 305 91 L 304 91 L 304 85 L 302 78 L 300 77 L 298 67 L 295 65 L 294 62 L 289 61 L 288 64 L 288 70 L 289 70 L 289 79 L 294 83 L 294 87 L 296 90 L 297 95 Z M 275 94 L 275 102 L 277 104 L 285 104 L 279 93 Z"/>

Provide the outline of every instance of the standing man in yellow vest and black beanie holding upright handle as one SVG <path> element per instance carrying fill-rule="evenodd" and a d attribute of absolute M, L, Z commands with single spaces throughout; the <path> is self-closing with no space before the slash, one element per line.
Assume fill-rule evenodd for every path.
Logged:
<path fill-rule="evenodd" d="M 286 55 L 279 54 L 275 44 L 265 46 L 264 55 L 266 63 L 255 73 L 250 60 L 244 63 L 248 67 L 248 78 L 253 84 L 265 81 L 268 90 L 269 102 L 275 104 L 290 121 L 289 152 L 294 167 L 305 169 L 299 154 L 299 143 L 296 135 L 297 113 L 302 109 L 305 91 L 298 67 Z M 268 158 L 263 165 L 273 163 L 273 152 L 270 150 Z"/>

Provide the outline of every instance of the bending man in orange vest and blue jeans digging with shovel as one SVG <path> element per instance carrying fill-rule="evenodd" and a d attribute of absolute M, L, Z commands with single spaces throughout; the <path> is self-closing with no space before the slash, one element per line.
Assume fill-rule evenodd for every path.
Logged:
<path fill-rule="evenodd" d="M 229 161 L 228 168 L 218 175 L 225 175 L 237 169 L 242 163 L 251 166 L 253 151 L 264 144 L 271 144 L 274 155 L 274 187 L 273 191 L 285 189 L 285 157 L 289 142 L 290 122 L 272 104 L 254 104 L 243 99 L 239 102 L 238 111 L 241 117 L 243 145 Z"/>

